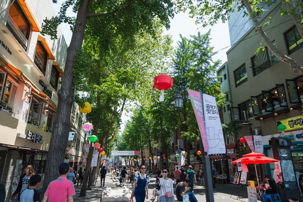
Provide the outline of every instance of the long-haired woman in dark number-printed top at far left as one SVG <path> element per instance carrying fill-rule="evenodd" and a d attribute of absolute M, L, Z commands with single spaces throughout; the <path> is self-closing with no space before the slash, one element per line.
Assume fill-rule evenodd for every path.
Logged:
<path fill-rule="evenodd" d="M 23 171 L 23 175 L 20 176 L 17 189 L 13 193 L 11 199 L 18 198 L 19 193 L 21 193 L 23 190 L 27 189 L 27 187 L 29 185 L 29 179 L 34 174 L 35 174 L 35 171 L 34 171 L 34 168 L 32 167 L 32 165 L 25 166 L 24 171 Z"/>

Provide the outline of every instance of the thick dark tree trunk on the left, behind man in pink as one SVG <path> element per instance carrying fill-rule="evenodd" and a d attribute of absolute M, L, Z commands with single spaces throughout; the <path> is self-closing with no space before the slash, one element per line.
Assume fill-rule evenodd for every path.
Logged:
<path fill-rule="evenodd" d="M 75 55 L 82 47 L 87 21 L 86 13 L 88 11 L 88 3 L 89 0 L 83 0 L 79 7 L 71 43 L 67 48 L 66 65 L 62 77 L 61 89 L 58 91 L 59 100 L 57 114 L 55 116 L 53 133 L 49 143 L 42 193 L 46 191 L 50 182 L 58 178 L 58 168 L 64 161 L 65 147 L 71 128 L 70 116 L 74 100 L 74 75 L 72 69 Z"/>

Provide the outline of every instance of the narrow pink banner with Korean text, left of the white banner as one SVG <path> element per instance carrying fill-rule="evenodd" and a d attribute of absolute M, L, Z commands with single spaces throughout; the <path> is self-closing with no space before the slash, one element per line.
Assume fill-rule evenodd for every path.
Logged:
<path fill-rule="evenodd" d="M 198 91 L 194 91 L 194 90 L 190 90 L 187 89 L 189 97 L 190 97 L 190 102 L 195 114 L 195 117 L 197 119 L 198 122 L 198 127 L 200 130 L 200 135 L 201 135 L 201 139 L 202 139 L 202 143 L 204 146 L 204 150 L 205 152 L 210 155 L 210 154 L 217 154 L 217 153 L 209 153 L 209 146 L 208 146 L 208 141 L 207 141 L 207 137 L 206 137 L 206 132 L 205 132 L 205 127 L 204 127 L 204 117 L 203 117 L 203 106 L 202 106 L 202 98 L 201 98 L 201 93 Z M 221 126 L 221 124 L 220 124 Z M 224 151 L 225 154 L 225 151 Z"/>

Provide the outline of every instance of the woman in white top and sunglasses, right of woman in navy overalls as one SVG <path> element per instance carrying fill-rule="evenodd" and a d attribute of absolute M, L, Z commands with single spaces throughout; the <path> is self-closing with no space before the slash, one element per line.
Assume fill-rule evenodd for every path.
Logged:
<path fill-rule="evenodd" d="M 160 179 L 160 202 L 174 202 L 175 200 L 173 180 L 168 175 L 167 169 L 163 169 L 163 177 Z"/>

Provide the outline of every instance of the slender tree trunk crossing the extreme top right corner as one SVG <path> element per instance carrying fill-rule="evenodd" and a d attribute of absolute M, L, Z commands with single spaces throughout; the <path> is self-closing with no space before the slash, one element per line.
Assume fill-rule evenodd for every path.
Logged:
<path fill-rule="evenodd" d="M 301 0 L 289 0 L 285 1 L 285 4 L 288 8 L 288 11 L 290 12 L 290 15 L 294 21 L 295 26 L 297 27 L 301 38 L 303 38 L 303 2 Z M 292 12 L 292 10 L 294 10 Z"/>

